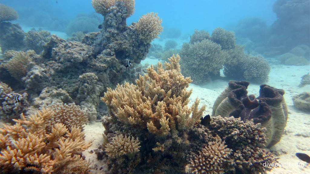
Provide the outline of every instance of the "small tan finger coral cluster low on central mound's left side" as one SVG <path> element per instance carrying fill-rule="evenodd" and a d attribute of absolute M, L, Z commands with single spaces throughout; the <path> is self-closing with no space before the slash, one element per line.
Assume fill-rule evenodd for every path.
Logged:
<path fill-rule="evenodd" d="M 117 158 L 122 155 L 133 155 L 139 152 L 139 138 L 131 136 L 118 135 L 113 137 L 113 140 L 105 145 L 105 152 L 109 158 Z"/>

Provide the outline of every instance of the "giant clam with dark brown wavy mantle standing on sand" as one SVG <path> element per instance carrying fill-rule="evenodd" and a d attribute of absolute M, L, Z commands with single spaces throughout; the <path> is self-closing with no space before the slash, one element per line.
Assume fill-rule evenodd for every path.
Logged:
<path fill-rule="evenodd" d="M 243 121 L 253 119 L 254 124 L 260 123 L 267 129 L 266 146 L 271 147 L 280 141 L 288 118 L 284 90 L 260 85 L 259 97 L 255 98 L 253 94 L 247 96 L 248 85 L 248 82 L 230 80 L 228 87 L 216 99 L 212 116 L 234 116 Z"/>

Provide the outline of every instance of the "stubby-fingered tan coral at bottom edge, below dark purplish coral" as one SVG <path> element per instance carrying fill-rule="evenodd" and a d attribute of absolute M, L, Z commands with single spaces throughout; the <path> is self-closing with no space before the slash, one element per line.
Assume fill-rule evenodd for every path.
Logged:
<path fill-rule="evenodd" d="M 232 150 L 227 148 L 225 141 L 222 142 L 219 136 L 208 144 L 209 146 L 202 148 L 199 155 L 190 160 L 190 164 L 185 167 L 187 173 L 221 174 L 227 167 L 225 163 L 233 163 L 229 156 Z"/>

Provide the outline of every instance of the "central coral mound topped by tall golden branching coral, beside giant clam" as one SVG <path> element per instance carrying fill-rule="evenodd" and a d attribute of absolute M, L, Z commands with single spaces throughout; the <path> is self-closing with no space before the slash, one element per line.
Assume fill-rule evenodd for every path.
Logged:
<path fill-rule="evenodd" d="M 151 65 L 136 85 L 117 85 L 101 98 L 109 115 L 103 117 L 103 145 L 95 152 L 107 161 L 108 173 L 229 173 L 236 170 L 235 159 L 244 173 L 269 171 L 262 164 L 275 158 L 264 149 L 265 129 L 233 117 L 213 117 L 210 130 L 201 125 L 204 106 L 198 110 L 198 100 L 187 106 L 191 80 L 181 75 L 178 55 L 169 61 L 165 68 L 158 63 L 157 71 Z M 134 153 L 126 152 L 130 144 Z"/>

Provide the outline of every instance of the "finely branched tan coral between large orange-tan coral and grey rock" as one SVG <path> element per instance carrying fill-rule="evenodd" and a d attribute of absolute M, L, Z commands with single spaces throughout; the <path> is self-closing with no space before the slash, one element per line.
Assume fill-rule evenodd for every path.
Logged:
<path fill-rule="evenodd" d="M 62 123 L 67 125 L 68 128 L 72 125 L 82 128 L 82 125 L 88 122 L 86 113 L 74 103 L 55 103 L 47 106 L 47 108 L 55 112 L 55 115 L 48 121 L 50 125 Z"/>

